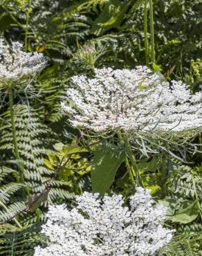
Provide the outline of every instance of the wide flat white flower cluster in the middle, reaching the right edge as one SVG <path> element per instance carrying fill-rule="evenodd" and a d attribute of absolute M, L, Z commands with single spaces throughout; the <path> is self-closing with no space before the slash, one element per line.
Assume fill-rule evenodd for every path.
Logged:
<path fill-rule="evenodd" d="M 146 66 L 134 70 L 95 69 L 95 76 L 72 78 L 62 109 L 73 127 L 110 130 L 184 131 L 202 126 L 202 93 L 190 94 L 182 82 L 172 85 Z"/>

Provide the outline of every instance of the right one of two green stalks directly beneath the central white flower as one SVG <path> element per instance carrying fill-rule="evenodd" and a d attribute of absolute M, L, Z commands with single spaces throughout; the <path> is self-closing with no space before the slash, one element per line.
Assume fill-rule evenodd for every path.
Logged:
<path fill-rule="evenodd" d="M 125 140 L 124 141 L 125 141 L 125 146 L 127 148 L 127 154 L 129 156 L 129 160 L 130 160 L 131 165 L 132 165 L 132 167 L 133 167 L 133 169 L 134 169 L 134 171 L 136 173 L 136 183 L 137 183 L 137 185 L 140 185 L 141 187 L 144 188 L 143 180 L 142 180 L 142 178 L 140 176 L 140 173 L 138 171 L 138 165 L 136 163 L 136 158 L 135 158 L 135 156 L 134 156 L 134 154 L 133 154 L 133 152 L 131 150 L 131 145 L 129 143 L 129 139 L 127 138 L 127 136 L 125 136 Z"/>

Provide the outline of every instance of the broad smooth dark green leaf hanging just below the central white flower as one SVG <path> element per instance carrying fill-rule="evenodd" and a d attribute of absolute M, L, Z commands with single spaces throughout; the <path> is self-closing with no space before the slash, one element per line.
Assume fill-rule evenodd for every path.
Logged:
<path fill-rule="evenodd" d="M 108 147 L 95 152 L 91 168 L 93 192 L 104 194 L 113 183 L 118 167 L 125 158 L 125 153 L 116 147 Z"/>

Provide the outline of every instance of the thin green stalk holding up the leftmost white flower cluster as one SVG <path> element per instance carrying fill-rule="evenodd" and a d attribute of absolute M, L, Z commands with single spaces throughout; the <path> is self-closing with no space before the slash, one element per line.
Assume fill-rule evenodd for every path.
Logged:
<path fill-rule="evenodd" d="M 12 141 L 14 145 L 14 152 L 15 152 L 15 158 L 17 159 L 18 165 L 20 161 L 19 156 L 19 150 L 17 145 L 17 136 L 16 136 L 16 129 L 15 129 L 15 113 L 14 113 L 14 104 L 13 104 L 13 93 L 12 93 L 12 87 L 9 86 L 8 88 L 8 98 L 9 98 L 9 107 L 10 107 L 10 120 L 11 120 L 11 127 L 12 127 Z M 24 174 L 23 170 L 21 169 L 21 182 L 24 182 Z"/>

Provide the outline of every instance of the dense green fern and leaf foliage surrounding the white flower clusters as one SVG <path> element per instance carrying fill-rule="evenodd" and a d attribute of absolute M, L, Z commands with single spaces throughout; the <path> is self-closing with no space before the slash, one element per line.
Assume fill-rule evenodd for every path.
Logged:
<path fill-rule="evenodd" d="M 124 155 L 118 155 L 124 149 L 112 148 L 110 138 L 85 138 L 73 130 L 59 102 L 71 76 L 90 74 L 92 66 L 145 65 L 144 3 L 144 0 L 0 1 L 0 36 L 8 43 L 23 42 L 25 51 L 42 52 L 48 59 L 48 66 L 35 80 L 15 87 L 15 125 L 21 163 L 17 163 L 13 152 L 8 90 L 0 85 L 0 221 L 3 223 L 0 255 L 33 255 L 33 247 L 40 240 L 36 223 L 44 221 L 48 203 L 71 205 L 75 194 L 91 190 L 91 179 L 95 179 L 94 191 L 111 188 L 126 196 L 134 192 L 129 177 L 124 175 L 125 165 L 121 160 Z M 201 0 L 154 0 L 153 5 L 156 63 L 149 65 L 160 70 L 167 80 L 183 80 L 190 84 L 192 92 L 201 90 Z M 149 33 L 148 39 L 150 42 Z M 88 47 L 95 50 L 93 55 L 83 54 L 82 50 Z M 151 53 L 149 46 L 149 56 Z M 80 143 L 75 145 L 77 136 Z M 194 143 L 200 142 L 201 137 L 194 136 Z M 155 152 L 160 142 L 155 143 L 145 143 L 137 157 L 147 188 L 160 199 L 163 152 Z M 163 203 L 169 208 L 166 225 L 176 228 L 176 237 L 163 249 L 163 255 L 202 255 L 202 156 L 181 148 L 180 152 L 184 151 L 186 163 L 179 161 L 182 155 L 177 153 L 178 149 L 177 160 L 169 159 L 169 190 Z M 52 180 L 65 160 L 67 164 Z M 100 180 L 93 176 L 98 161 L 101 161 L 99 179 L 107 178 L 102 190 Z M 111 175 L 106 173 L 106 162 Z M 21 167 L 24 182 L 19 179 Z M 42 200 L 27 212 L 21 212 L 49 181 L 50 188 Z"/>

